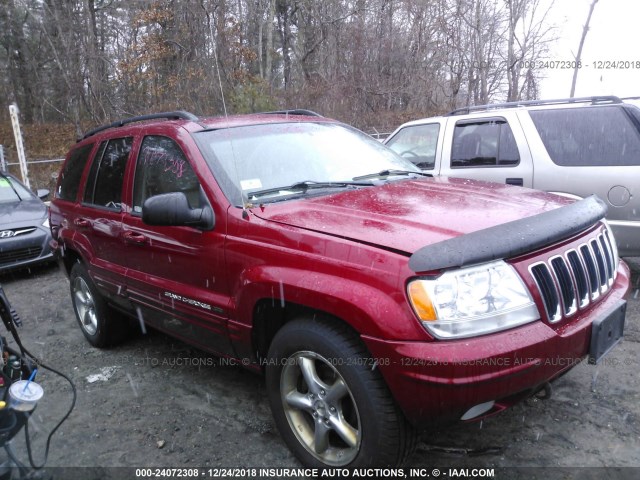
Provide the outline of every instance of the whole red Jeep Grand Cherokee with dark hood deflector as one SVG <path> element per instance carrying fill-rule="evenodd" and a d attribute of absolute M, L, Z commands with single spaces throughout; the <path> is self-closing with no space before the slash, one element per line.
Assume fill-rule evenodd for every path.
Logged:
<path fill-rule="evenodd" d="M 300 461 L 350 468 L 617 343 L 629 270 L 605 210 L 430 178 L 313 112 L 170 112 L 75 145 L 51 228 L 90 343 L 128 315 L 264 371 Z"/>

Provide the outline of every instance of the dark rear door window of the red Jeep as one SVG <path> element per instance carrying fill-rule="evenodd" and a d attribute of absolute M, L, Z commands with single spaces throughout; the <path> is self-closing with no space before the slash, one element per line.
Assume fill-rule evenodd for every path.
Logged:
<path fill-rule="evenodd" d="M 84 203 L 120 210 L 122 183 L 133 138 L 115 138 L 100 144 L 91 165 L 84 192 Z"/>

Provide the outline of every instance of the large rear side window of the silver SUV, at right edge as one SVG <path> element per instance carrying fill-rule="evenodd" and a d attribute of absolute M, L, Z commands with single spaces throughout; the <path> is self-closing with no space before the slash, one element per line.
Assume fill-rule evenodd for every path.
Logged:
<path fill-rule="evenodd" d="M 617 107 L 530 111 L 551 160 L 566 167 L 640 165 L 640 135 Z"/>

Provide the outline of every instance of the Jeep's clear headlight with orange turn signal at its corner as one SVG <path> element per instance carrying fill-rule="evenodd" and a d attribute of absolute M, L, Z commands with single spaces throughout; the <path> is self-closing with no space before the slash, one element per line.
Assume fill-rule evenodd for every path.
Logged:
<path fill-rule="evenodd" d="M 442 339 L 483 335 L 540 318 L 524 283 L 503 261 L 417 279 L 407 293 L 422 325 Z"/>

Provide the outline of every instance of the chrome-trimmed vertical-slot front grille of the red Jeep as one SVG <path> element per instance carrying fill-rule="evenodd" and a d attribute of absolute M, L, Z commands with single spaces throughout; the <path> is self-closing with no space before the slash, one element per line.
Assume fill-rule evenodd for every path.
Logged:
<path fill-rule="evenodd" d="M 538 262 L 529 271 L 552 323 L 575 314 L 613 285 L 617 259 L 607 230 L 562 255 Z"/>

